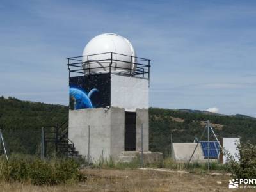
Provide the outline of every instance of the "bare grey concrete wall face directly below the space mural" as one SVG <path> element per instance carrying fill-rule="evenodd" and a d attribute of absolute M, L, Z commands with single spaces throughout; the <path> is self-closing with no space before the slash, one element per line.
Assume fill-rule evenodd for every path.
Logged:
<path fill-rule="evenodd" d="M 90 125 L 90 157 L 99 159 L 111 154 L 111 113 L 103 108 L 69 111 L 68 137 L 83 156 L 88 155 L 88 125 Z"/>

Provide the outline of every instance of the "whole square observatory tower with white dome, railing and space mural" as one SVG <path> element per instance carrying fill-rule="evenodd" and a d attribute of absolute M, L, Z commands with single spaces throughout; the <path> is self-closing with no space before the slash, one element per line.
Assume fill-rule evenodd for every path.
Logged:
<path fill-rule="evenodd" d="M 68 138 L 79 154 L 95 161 L 147 152 L 150 60 L 114 33 L 95 36 L 83 56 L 67 59 Z"/>

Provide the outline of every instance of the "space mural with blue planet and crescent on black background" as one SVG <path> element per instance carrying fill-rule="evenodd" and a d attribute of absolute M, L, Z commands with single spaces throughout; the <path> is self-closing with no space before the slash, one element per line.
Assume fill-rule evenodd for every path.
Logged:
<path fill-rule="evenodd" d="M 69 107 L 72 110 L 110 106 L 110 76 L 95 74 L 69 79 Z"/>

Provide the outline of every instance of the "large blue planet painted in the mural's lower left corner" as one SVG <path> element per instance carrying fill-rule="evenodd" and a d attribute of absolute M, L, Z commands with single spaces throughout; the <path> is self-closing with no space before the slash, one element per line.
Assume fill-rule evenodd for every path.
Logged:
<path fill-rule="evenodd" d="M 74 99 L 74 109 L 93 108 L 90 98 L 78 88 L 69 88 L 70 98 Z"/>

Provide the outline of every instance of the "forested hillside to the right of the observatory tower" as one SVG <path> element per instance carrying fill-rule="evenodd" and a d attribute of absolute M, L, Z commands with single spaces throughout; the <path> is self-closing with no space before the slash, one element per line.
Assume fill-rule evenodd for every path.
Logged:
<path fill-rule="evenodd" d="M 170 154 L 171 134 L 173 142 L 193 142 L 204 131 L 205 121 L 211 122 L 218 138 L 240 136 L 242 141 L 256 143 L 256 118 L 243 115 L 220 115 L 192 110 L 150 108 L 150 148 Z M 210 135 L 214 139 L 213 134 Z M 205 133 L 202 140 L 207 139 Z"/>

